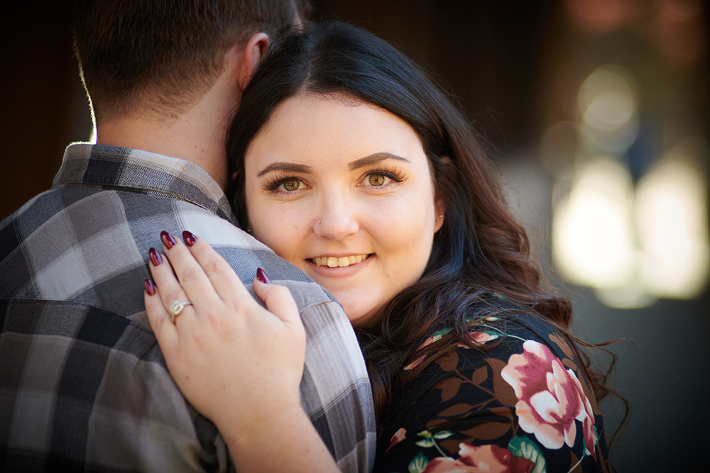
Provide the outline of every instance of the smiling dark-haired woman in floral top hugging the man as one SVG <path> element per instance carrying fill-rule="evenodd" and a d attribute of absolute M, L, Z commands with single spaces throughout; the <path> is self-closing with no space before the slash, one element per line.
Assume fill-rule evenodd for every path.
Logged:
<path fill-rule="evenodd" d="M 608 471 L 607 391 L 569 333 L 569 301 L 542 285 L 469 124 L 400 52 L 340 23 L 286 40 L 244 93 L 229 158 L 244 228 L 328 289 L 359 335 L 376 471 Z M 288 291 L 258 274 L 270 315 L 186 235 L 164 247 L 180 282 L 151 264 L 159 296 L 146 293 L 181 389 L 238 469 L 334 467 L 299 413 Z M 175 300 L 192 306 L 173 325 Z"/>

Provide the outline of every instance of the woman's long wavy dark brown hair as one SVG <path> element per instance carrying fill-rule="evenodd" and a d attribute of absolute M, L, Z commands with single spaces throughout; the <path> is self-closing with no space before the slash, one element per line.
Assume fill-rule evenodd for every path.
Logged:
<path fill-rule="evenodd" d="M 344 23 L 308 26 L 268 55 L 251 79 L 231 125 L 229 194 L 242 226 L 244 154 L 275 108 L 297 94 L 340 95 L 383 108 L 407 122 L 430 162 L 437 199 L 445 206 L 421 279 L 383 308 L 376 329 L 357 330 L 370 374 L 378 420 L 392 391 L 415 377 L 457 343 L 471 344 L 472 324 L 495 311 L 494 299 L 513 310 L 535 313 L 555 325 L 572 346 L 572 305 L 548 289 L 530 258 L 525 230 L 506 208 L 486 150 L 457 106 L 427 73 L 366 30 Z M 438 343 L 418 350 L 442 328 L 454 328 Z M 584 344 L 586 345 L 586 344 Z M 403 367 L 427 355 L 413 370 Z M 608 390 L 606 374 L 584 371 L 597 399 Z"/>

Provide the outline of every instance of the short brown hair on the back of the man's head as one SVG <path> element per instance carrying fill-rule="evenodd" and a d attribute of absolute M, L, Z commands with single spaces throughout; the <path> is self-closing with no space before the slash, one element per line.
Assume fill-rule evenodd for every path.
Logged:
<path fill-rule="evenodd" d="M 288 28 L 307 3 L 77 0 L 74 49 L 97 123 L 179 116 L 212 87 L 229 48 Z"/>

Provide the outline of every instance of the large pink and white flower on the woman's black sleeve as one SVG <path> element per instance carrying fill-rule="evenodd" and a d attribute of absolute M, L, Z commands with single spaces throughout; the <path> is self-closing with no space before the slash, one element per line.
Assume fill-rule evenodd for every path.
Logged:
<path fill-rule="evenodd" d="M 589 399 L 572 369 L 564 369 L 547 346 L 526 341 L 523 353 L 511 356 L 501 375 L 518 397 L 515 414 L 520 428 L 534 434 L 542 446 L 557 449 L 564 443 L 574 445 L 574 421 L 581 421 L 586 449 L 596 459 L 594 413 Z"/>

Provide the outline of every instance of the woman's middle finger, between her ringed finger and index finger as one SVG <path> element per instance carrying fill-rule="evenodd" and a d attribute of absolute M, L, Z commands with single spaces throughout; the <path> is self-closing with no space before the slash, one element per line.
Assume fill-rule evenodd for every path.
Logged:
<path fill-rule="evenodd" d="M 164 238 L 164 235 L 161 234 L 161 240 L 163 240 L 165 256 L 168 257 L 170 266 L 178 276 L 176 282 L 180 286 L 180 291 L 186 296 L 182 300 L 189 300 L 197 306 L 203 306 L 217 299 L 218 295 L 214 290 L 214 286 L 212 286 L 212 282 L 210 282 L 200 263 L 195 260 L 191 250 L 180 240 L 172 237 L 172 240 L 168 242 L 170 245 L 166 245 L 167 239 Z M 155 281 L 155 283 L 161 286 L 160 282 Z M 170 284 L 170 289 L 173 289 L 173 287 L 173 284 Z M 164 286 L 161 286 L 161 288 L 165 289 Z"/>

